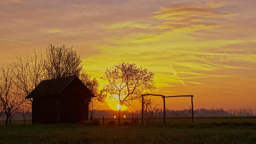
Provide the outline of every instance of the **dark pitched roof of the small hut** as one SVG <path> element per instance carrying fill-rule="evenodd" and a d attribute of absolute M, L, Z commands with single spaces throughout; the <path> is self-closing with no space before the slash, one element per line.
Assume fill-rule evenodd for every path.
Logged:
<path fill-rule="evenodd" d="M 49 96 L 49 95 L 58 95 L 64 91 L 65 88 L 74 80 L 78 79 L 77 76 L 61 77 L 57 79 L 43 80 L 36 86 L 36 88 L 25 97 L 25 99 L 33 98 L 34 96 Z M 83 83 L 80 80 L 81 83 Z M 83 84 L 84 85 L 84 84 Z M 85 86 L 85 85 L 84 85 Z M 89 92 L 91 97 L 95 97 L 94 94 L 85 86 L 86 91 Z"/>

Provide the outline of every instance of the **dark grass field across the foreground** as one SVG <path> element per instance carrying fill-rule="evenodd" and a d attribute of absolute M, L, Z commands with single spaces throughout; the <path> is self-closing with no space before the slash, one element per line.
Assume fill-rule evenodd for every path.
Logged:
<path fill-rule="evenodd" d="M 167 122 L 145 126 L 1 125 L 0 144 L 256 144 L 255 118 Z"/>

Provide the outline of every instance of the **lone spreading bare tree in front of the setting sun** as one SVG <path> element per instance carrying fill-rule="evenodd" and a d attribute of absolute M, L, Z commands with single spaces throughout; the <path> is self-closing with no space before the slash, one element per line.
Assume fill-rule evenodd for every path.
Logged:
<path fill-rule="evenodd" d="M 143 92 L 152 91 L 155 88 L 154 75 L 147 69 L 123 62 L 107 68 L 101 79 L 108 82 L 108 85 L 104 87 L 105 91 L 112 98 L 117 98 L 121 107 L 122 105 L 129 106 L 134 99 L 140 99 Z M 120 125 L 120 116 L 121 108 L 118 113 L 118 125 Z"/>

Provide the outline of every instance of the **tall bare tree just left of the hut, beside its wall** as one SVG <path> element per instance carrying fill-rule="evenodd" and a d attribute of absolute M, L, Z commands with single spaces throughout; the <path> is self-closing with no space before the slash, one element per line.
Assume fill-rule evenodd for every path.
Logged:
<path fill-rule="evenodd" d="M 36 52 L 34 55 L 22 58 L 21 55 L 16 53 L 16 58 L 12 63 L 14 74 L 14 85 L 19 89 L 22 98 L 22 106 L 20 112 L 23 114 L 24 124 L 26 123 L 25 114 L 31 112 L 32 99 L 25 100 L 25 96 L 36 88 L 36 86 L 43 80 L 43 52 Z"/>

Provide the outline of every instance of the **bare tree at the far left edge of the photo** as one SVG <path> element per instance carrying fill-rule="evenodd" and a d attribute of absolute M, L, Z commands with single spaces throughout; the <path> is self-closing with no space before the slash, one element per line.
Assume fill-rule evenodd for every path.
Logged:
<path fill-rule="evenodd" d="M 0 100 L 6 116 L 5 125 L 8 124 L 8 119 L 11 125 L 12 116 L 18 111 L 22 101 L 18 89 L 13 86 L 12 69 L 7 66 L 6 70 L 4 68 L 1 70 L 3 78 L 0 82 Z"/>

